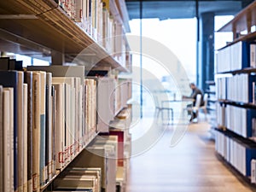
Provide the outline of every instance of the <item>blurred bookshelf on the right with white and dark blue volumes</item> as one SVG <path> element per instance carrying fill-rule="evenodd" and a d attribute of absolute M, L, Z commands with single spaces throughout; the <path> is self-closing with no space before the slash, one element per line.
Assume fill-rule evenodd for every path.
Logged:
<path fill-rule="evenodd" d="M 233 32 L 233 42 L 218 49 L 215 74 L 216 152 L 250 183 L 256 158 L 255 11 L 253 2 L 218 30 Z"/>

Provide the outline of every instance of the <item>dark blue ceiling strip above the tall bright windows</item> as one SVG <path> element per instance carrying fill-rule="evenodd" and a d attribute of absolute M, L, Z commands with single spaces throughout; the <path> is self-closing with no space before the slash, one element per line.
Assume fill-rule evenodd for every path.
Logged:
<path fill-rule="evenodd" d="M 142 17 L 143 18 L 159 18 L 166 19 L 183 19 L 194 18 L 198 10 L 198 15 L 203 13 L 213 12 L 215 15 L 236 15 L 251 0 L 197 0 L 197 1 L 152 1 L 142 0 Z M 126 0 L 126 7 L 128 9 L 130 20 L 140 18 L 140 1 Z M 196 6 L 198 4 L 198 6 Z M 196 9 L 198 8 L 198 9 Z"/>

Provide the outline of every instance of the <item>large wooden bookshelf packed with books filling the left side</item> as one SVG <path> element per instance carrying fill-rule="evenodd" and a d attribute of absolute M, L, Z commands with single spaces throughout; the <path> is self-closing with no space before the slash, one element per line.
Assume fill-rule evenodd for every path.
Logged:
<path fill-rule="evenodd" d="M 11 191 L 9 190 L 11 188 L 14 188 L 14 191 L 26 191 L 28 188 L 37 192 L 53 191 L 55 183 L 57 183 L 55 181 L 58 181 L 63 172 L 66 172 L 71 168 L 73 161 L 84 156 L 88 148 L 92 148 L 93 150 L 103 150 L 106 154 L 117 153 L 117 147 L 115 146 L 117 145 L 117 141 L 114 139 L 111 140 L 112 137 L 109 136 L 107 141 L 102 144 L 101 140 L 98 141 L 98 138 L 100 138 L 98 136 L 101 132 L 104 132 L 104 134 L 109 133 L 110 121 L 113 121 L 116 116 L 119 116 L 119 113 L 122 113 L 124 110 L 129 110 L 127 109 L 126 102 L 131 98 L 131 81 L 130 79 L 119 79 L 117 75 L 120 72 L 131 72 L 130 48 L 127 39 L 125 38 L 125 32 L 130 31 L 125 1 L 66 1 L 66 3 L 68 2 L 70 4 L 63 2 L 65 1 L 10 0 L 0 3 L 0 51 L 35 57 L 38 55 L 51 57 L 50 67 L 27 67 L 25 72 L 17 72 L 17 75 L 24 75 L 24 80 L 28 75 L 27 71 L 31 72 L 30 83 L 32 84 L 26 82 L 28 80 L 26 79 L 25 82 L 27 88 L 24 88 L 22 94 L 19 93 L 17 95 L 17 100 L 19 100 L 19 96 L 20 99 L 26 98 L 25 96 L 29 96 L 29 94 L 32 97 L 31 106 L 33 111 L 29 111 L 32 108 L 26 108 L 26 110 L 24 109 L 24 112 L 19 115 L 24 119 L 34 119 L 35 122 L 32 122 L 32 125 L 37 124 L 38 127 L 40 126 L 41 132 L 37 133 L 40 135 L 40 139 L 37 141 L 33 136 L 33 139 L 31 137 L 33 141 L 30 143 L 34 146 L 34 143 L 32 142 L 35 142 L 37 144 L 36 146 L 39 146 L 36 160 L 32 159 L 32 164 L 33 166 L 37 166 L 36 168 L 40 170 L 37 173 L 38 175 L 36 174 L 36 176 L 32 176 L 32 180 L 30 180 L 29 183 L 26 183 L 26 180 L 23 179 L 22 176 L 16 178 L 15 172 L 19 172 L 20 174 L 23 173 L 23 168 L 24 170 L 28 170 L 28 168 L 23 166 L 20 166 L 22 167 L 22 170 L 21 168 L 16 167 L 17 165 L 21 165 L 20 162 L 23 162 L 23 158 L 25 158 L 19 157 L 20 159 L 17 160 L 18 163 L 16 164 L 14 162 L 15 166 L 10 166 L 9 169 L 11 172 L 9 178 L 15 178 L 7 181 L 3 178 L 3 164 L 1 163 L 0 189 L 3 189 L 3 191 L 5 191 L 3 186 L 6 185 L 9 187 L 6 191 Z M 79 3 L 82 3 L 84 6 L 90 6 L 90 14 L 95 16 L 94 19 L 89 20 L 86 17 L 87 15 L 85 15 L 85 12 L 88 12 L 88 7 L 86 7 L 88 9 L 86 9 L 85 12 L 81 12 L 84 13 L 83 17 L 79 18 L 79 14 L 76 15 L 75 9 L 78 8 L 77 6 L 80 6 Z M 106 3 L 107 7 L 104 7 L 105 5 L 103 5 L 103 3 Z M 91 11 L 92 8 L 97 11 L 93 13 Z M 81 11 L 80 9 L 79 11 Z M 14 62 L 17 63 L 17 61 Z M 66 65 L 66 62 L 73 62 L 73 64 L 78 66 L 64 66 Z M 5 70 L 3 69 L 4 67 L 6 70 L 16 69 L 15 66 L 11 67 L 9 63 L 9 59 L 7 59 L 7 63 L 4 63 L 4 61 L 1 60 L 1 70 Z M 86 72 L 88 70 L 105 70 L 106 67 L 108 68 L 108 73 L 114 73 L 111 74 L 110 77 L 84 77 L 84 74 L 87 74 Z M 33 76 L 40 79 L 38 81 L 35 80 L 35 82 L 41 83 L 39 84 L 32 81 Z M 49 80 L 46 76 L 52 77 Z M 104 79 L 108 79 L 108 82 L 101 89 L 96 89 L 97 82 L 104 81 Z M 23 80 L 15 80 L 20 84 L 24 83 Z M 48 84 L 47 82 L 50 83 Z M 42 90 L 37 90 L 35 84 L 37 84 L 38 87 L 41 87 Z M 5 86 L 10 85 L 5 84 Z M 26 86 L 24 85 L 24 87 Z M 44 86 L 46 90 L 44 89 Z M 4 95 L 3 101 L 8 101 L 9 106 L 15 106 L 17 103 L 22 104 L 22 106 L 30 105 L 29 102 L 24 104 L 23 102 L 15 103 L 9 101 L 7 96 L 12 95 L 13 92 L 12 90 L 6 89 L 9 88 L 3 88 L 3 94 L 1 87 L 0 98 L 2 100 L 2 96 Z M 17 90 L 18 88 L 15 88 L 14 93 L 17 93 Z M 28 90 L 31 92 L 29 93 Z M 49 94 L 49 90 L 52 95 Z M 44 91 L 46 91 L 45 94 Z M 102 98 L 105 95 L 104 91 L 108 91 L 109 99 L 111 98 L 109 103 L 105 102 L 105 104 L 102 102 Z M 38 94 L 38 97 L 32 95 L 34 92 Z M 43 96 L 39 98 L 40 94 Z M 46 96 L 48 96 L 47 94 L 50 95 L 49 99 L 46 98 Z M 56 99 L 55 96 L 58 97 L 58 99 Z M 3 113 L 3 101 L 0 101 L 1 115 Z M 109 105 L 111 108 L 109 108 Z M 22 108 L 20 106 L 19 108 Z M 97 113 L 97 110 L 99 111 L 100 107 L 105 110 L 105 113 L 111 114 L 108 115 L 106 119 L 102 120 L 104 124 L 102 122 L 100 124 L 99 119 L 101 116 Z M 4 106 L 4 108 L 8 108 L 8 106 Z M 48 108 L 45 109 L 47 110 L 47 113 L 41 113 L 40 116 L 39 113 L 35 113 L 37 112 L 37 108 Z M 48 114 L 49 108 L 51 110 L 50 114 Z M 15 113 L 17 113 L 17 111 L 15 111 Z M 102 111 L 102 113 L 104 113 L 104 111 Z M 51 125 L 52 127 L 55 127 L 54 131 L 49 131 L 49 127 L 44 127 L 44 118 L 46 122 L 45 127 Z M 24 125 L 22 123 L 22 126 L 26 127 L 25 123 Z M 127 117 L 127 119 L 125 118 L 124 130 L 129 130 L 129 126 L 129 119 Z M 111 128 L 111 130 L 113 131 L 113 128 Z M 14 133 L 10 132 L 9 134 L 11 135 Z M 18 135 L 13 138 L 14 143 L 10 142 L 10 144 L 14 146 L 14 151 L 16 150 L 16 139 L 18 142 L 22 140 L 24 146 L 27 139 L 25 137 L 20 137 L 20 133 L 15 134 Z M 57 134 L 59 135 L 56 136 Z M 129 135 L 128 133 L 122 134 Z M 2 132 L 1 136 L 3 136 Z M 26 136 L 29 137 L 28 135 Z M 131 136 L 123 141 L 124 145 L 131 145 L 130 137 Z M 119 137 L 116 136 L 116 139 L 118 138 Z M 2 144 L 0 144 L 0 148 L 4 148 L 4 145 Z M 46 149 L 44 149 L 42 147 L 44 145 L 48 147 L 45 147 Z M 55 147 L 50 148 L 50 145 Z M 40 148 L 40 146 L 42 148 Z M 109 148 L 109 150 L 106 150 L 106 148 L 104 148 L 105 146 L 106 148 Z M 129 151 L 130 148 L 127 148 L 127 150 Z M 128 153 L 127 150 L 123 150 L 124 155 Z M 17 151 L 18 154 L 20 154 L 19 148 Z M 36 150 L 33 151 L 33 153 L 36 154 Z M 52 160 L 58 161 L 58 164 L 53 162 L 42 168 L 42 164 L 44 166 L 47 163 L 46 161 L 49 158 L 48 155 L 55 156 L 55 159 L 52 157 Z M 129 155 L 125 156 L 125 158 L 129 159 Z M 0 156 L 0 159 L 1 162 L 3 162 L 3 156 Z M 15 152 L 11 155 L 10 159 L 15 159 Z M 4 162 L 7 161 L 8 160 L 5 159 Z M 39 161 L 40 167 L 38 165 Z M 102 162 L 105 161 L 106 158 L 103 157 Z M 124 161 L 126 162 L 126 160 Z M 105 170 L 112 170 L 111 172 L 108 172 L 109 177 L 105 177 L 105 181 L 112 183 L 112 185 L 108 186 L 108 184 L 105 183 L 104 186 L 100 185 L 100 189 L 102 188 L 104 191 L 112 192 L 115 190 L 116 185 L 120 186 L 122 185 L 121 183 L 125 183 L 125 175 L 127 166 L 129 165 L 126 163 L 117 167 L 115 167 L 115 165 L 117 165 L 117 160 L 111 159 L 108 163 L 108 166 L 111 167 L 104 166 Z M 86 165 L 83 164 L 83 166 Z M 85 169 L 87 167 L 82 168 Z M 119 170 L 118 176 L 116 175 L 116 172 L 114 172 L 115 169 Z M 96 170 L 96 172 L 98 172 L 98 170 Z M 24 175 L 26 175 L 25 172 Z M 121 175 L 123 175 L 123 177 Z M 22 181 L 19 180 L 21 178 L 23 179 Z M 9 183 L 4 183 L 4 181 Z M 98 187 L 94 189 L 100 190 Z M 88 191 L 91 191 L 91 189 Z"/>

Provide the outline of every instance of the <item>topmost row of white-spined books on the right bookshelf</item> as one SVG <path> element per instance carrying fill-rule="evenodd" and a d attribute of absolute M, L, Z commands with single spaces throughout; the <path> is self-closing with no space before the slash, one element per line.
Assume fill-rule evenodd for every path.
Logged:
<path fill-rule="evenodd" d="M 251 61 L 255 61 L 250 49 L 249 42 L 240 41 L 236 44 L 231 44 L 223 49 L 219 49 L 216 54 L 216 73 L 224 73 L 235 70 L 241 70 L 246 67 L 253 67 Z M 254 55 L 255 56 L 255 55 Z"/>

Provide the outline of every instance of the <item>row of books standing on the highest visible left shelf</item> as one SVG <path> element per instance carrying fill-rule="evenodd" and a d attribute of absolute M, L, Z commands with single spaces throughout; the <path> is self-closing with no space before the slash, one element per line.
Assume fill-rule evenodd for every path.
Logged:
<path fill-rule="evenodd" d="M 126 42 L 123 23 L 114 18 L 115 13 L 111 13 L 109 9 L 109 0 L 59 0 L 57 3 L 84 32 L 125 66 Z M 117 9 L 115 3 L 111 6 Z"/>

